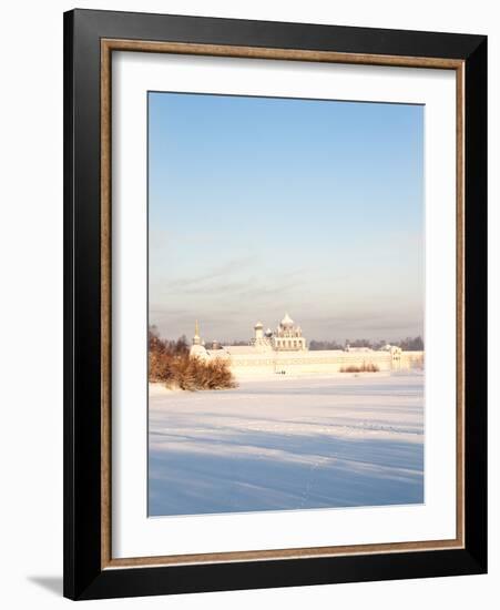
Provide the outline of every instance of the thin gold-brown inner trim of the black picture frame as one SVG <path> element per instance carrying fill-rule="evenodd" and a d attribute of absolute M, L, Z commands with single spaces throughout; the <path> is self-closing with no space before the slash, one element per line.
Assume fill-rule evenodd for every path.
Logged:
<path fill-rule="evenodd" d="M 102 362 L 102 569 L 137 566 L 169 566 L 200 562 L 248 561 L 255 559 L 294 559 L 306 557 L 333 557 L 375 552 L 401 552 L 463 548 L 463 376 L 462 353 L 457 354 L 457 536 L 453 540 L 419 542 L 356 545 L 343 547 L 294 548 L 234 551 L 202 555 L 162 557 L 131 557 L 113 559 L 111 555 L 111 54 L 113 51 L 154 53 L 182 53 L 212 57 L 255 58 L 287 61 L 328 63 L 355 63 L 368 65 L 404 65 L 455 70 L 457 73 L 457 343 L 461 343 L 463 305 L 463 62 L 439 58 L 409 58 L 395 55 L 358 55 L 324 51 L 296 51 L 252 47 L 226 47 L 211 44 L 170 43 L 137 40 L 101 40 L 101 362 Z"/>

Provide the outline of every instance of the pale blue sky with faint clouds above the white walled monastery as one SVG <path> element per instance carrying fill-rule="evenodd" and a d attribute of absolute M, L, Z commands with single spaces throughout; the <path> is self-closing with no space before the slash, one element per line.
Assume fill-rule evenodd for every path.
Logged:
<path fill-rule="evenodd" d="M 149 94 L 150 324 L 424 333 L 424 106 Z"/>

